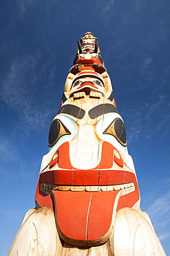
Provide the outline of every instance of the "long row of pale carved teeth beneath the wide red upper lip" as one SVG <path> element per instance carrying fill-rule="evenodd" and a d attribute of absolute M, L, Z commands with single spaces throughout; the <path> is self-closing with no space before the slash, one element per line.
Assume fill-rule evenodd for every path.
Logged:
<path fill-rule="evenodd" d="M 51 194 L 51 190 L 61 190 L 61 191 L 113 191 L 113 190 L 124 190 L 134 187 L 134 183 L 125 183 L 120 185 L 101 185 L 101 186 L 70 186 L 70 185 L 55 185 L 49 183 L 41 183 L 40 190 L 46 194 Z"/>

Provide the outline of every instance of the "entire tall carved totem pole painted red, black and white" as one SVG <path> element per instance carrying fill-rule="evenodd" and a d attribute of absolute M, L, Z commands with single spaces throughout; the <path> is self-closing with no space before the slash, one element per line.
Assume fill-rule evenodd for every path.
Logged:
<path fill-rule="evenodd" d="M 92 33 L 78 42 L 35 199 L 8 255 L 165 255 L 140 210 L 125 125 Z"/>

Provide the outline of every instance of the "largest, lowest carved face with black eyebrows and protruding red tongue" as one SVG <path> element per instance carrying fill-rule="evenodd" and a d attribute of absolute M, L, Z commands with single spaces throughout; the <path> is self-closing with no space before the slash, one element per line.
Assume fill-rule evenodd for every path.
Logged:
<path fill-rule="evenodd" d="M 100 244 L 107 240 L 117 210 L 138 207 L 138 183 L 126 145 L 123 119 L 105 98 L 70 99 L 56 114 L 36 201 L 55 210 L 65 241 L 91 246 L 97 239 Z"/>

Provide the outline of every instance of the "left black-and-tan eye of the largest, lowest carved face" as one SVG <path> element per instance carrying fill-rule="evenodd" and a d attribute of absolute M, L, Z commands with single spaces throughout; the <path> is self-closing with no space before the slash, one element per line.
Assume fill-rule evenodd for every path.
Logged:
<path fill-rule="evenodd" d="M 49 132 L 49 147 L 52 147 L 61 136 L 71 134 L 71 132 L 63 125 L 63 122 L 59 119 L 55 119 L 52 122 Z"/>

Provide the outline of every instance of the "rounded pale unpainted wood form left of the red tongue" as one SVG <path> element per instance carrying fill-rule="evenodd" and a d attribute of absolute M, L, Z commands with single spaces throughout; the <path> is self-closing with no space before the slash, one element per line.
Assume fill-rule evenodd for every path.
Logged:
<path fill-rule="evenodd" d="M 61 241 L 56 232 L 54 212 L 43 207 L 30 214 L 17 232 L 8 256 L 61 255 Z"/>

